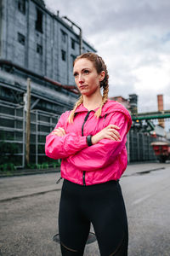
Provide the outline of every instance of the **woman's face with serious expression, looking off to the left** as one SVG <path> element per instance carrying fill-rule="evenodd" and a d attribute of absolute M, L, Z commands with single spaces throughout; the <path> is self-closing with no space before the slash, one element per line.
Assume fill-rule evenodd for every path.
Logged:
<path fill-rule="evenodd" d="M 98 74 L 94 63 L 84 58 L 75 62 L 73 75 L 81 94 L 91 96 L 100 91 L 99 82 L 105 78 L 105 71 Z"/>

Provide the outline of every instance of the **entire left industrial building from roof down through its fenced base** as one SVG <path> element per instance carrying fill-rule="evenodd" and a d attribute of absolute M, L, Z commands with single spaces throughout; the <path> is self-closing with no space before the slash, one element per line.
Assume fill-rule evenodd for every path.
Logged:
<path fill-rule="evenodd" d="M 79 96 L 73 61 L 80 51 L 96 51 L 77 27 L 48 10 L 42 0 L 0 0 L 0 165 L 26 164 L 28 78 L 30 160 L 36 165 L 47 160 L 45 137 Z"/>

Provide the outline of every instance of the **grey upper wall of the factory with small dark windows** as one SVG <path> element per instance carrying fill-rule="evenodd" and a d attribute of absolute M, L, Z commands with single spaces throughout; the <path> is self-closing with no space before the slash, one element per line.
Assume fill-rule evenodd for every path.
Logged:
<path fill-rule="evenodd" d="M 74 84 L 72 61 L 79 55 L 78 35 L 41 2 L 23 1 L 26 4 L 23 11 L 19 7 L 22 0 L 0 0 L 0 32 L 3 26 L 0 34 L 0 45 L 3 45 L 1 58 L 61 84 Z M 42 14 L 42 31 L 36 27 L 37 12 Z M 71 40 L 75 42 L 75 49 L 72 48 Z M 84 51 L 95 51 L 85 41 L 82 46 Z M 65 60 L 62 59 L 62 51 L 65 53 Z"/>

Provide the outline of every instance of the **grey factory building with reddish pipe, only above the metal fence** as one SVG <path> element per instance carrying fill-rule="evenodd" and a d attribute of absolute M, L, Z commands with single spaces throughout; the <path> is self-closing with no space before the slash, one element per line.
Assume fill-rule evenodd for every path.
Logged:
<path fill-rule="evenodd" d="M 22 102 L 29 77 L 34 108 L 54 113 L 71 108 L 77 99 L 72 63 L 80 42 L 83 52 L 95 51 L 77 27 L 42 0 L 0 0 L 0 99 Z"/>

